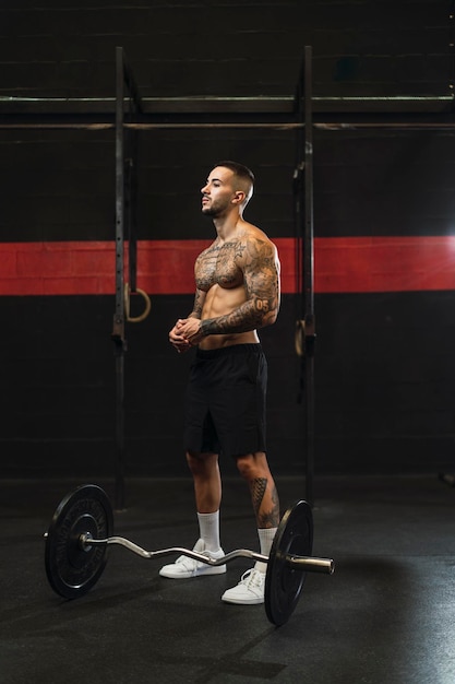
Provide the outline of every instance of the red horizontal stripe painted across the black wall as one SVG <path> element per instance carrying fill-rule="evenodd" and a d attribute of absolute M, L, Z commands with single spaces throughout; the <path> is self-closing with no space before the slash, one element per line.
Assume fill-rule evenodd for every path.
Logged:
<path fill-rule="evenodd" d="M 277 238 L 284 294 L 295 293 L 296 241 Z M 211 240 L 140 240 L 137 286 L 194 292 L 194 259 Z M 115 293 L 115 243 L 0 243 L 1 295 Z M 316 293 L 455 290 L 455 236 L 314 240 Z"/>

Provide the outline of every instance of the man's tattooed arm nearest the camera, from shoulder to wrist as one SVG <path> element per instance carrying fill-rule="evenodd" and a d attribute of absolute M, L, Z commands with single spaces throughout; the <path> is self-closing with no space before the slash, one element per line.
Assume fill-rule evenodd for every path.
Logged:
<path fill-rule="evenodd" d="M 250 239 L 243 251 L 247 300 L 230 314 L 201 321 L 201 333 L 249 332 L 275 322 L 279 308 L 279 262 L 274 245 Z"/>

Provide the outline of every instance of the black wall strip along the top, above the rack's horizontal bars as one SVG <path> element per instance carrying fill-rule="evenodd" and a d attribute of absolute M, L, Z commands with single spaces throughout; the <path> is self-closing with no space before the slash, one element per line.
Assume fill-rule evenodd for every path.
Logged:
<path fill-rule="evenodd" d="M 110 96 L 125 48 L 145 96 L 288 95 L 304 45 L 318 96 L 446 95 L 452 1 L 206 0 L 0 8 L 2 95 Z"/>

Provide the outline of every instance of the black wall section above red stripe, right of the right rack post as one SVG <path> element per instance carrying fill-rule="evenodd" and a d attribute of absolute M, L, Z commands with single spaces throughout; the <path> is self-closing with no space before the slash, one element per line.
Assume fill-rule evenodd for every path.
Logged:
<path fill-rule="evenodd" d="M 455 133 L 324 131 L 314 145 L 319 236 L 453 234 Z"/>

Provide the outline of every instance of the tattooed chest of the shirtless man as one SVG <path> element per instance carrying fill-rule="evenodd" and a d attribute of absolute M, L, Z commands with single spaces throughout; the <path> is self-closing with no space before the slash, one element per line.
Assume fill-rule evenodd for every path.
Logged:
<path fill-rule="evenodd" d="M 213 285 L 231 288 L 243 282 L 239 267 L 244 246 L 241 243 L 212 245 L 203 251 L 195 262 L 195 280 L 200 290 L 207 291 Z"/>

